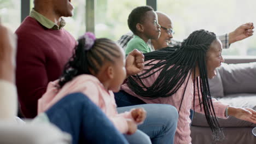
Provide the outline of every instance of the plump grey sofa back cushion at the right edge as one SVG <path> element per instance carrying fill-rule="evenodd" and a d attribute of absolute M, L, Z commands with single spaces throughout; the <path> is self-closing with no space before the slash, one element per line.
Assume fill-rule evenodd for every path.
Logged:
<path fill-rule="evenodd" d="M 224 95 L 256 93 L 256 62 L 222 64 L 219 68 Z"/>

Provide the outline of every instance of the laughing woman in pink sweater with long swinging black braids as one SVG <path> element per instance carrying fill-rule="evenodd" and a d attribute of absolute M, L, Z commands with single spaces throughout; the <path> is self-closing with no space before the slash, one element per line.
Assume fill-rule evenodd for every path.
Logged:
<path fill-rule="evenodd" d="M 170 104 L 179 112 L 174 143 L 191 143 L 190 109 L 205 113 L 213 136 L 222 139 L 216 116 L 256 123 L 256 111 L 231 107 L 212 99 L 208 78 L 224 62 L 222 45 L 212 32 L 200 30 L 189 35 L 181 47 L 144 53 L 144 71 L 130 76 L 121 88 L 146 103 Z"/>

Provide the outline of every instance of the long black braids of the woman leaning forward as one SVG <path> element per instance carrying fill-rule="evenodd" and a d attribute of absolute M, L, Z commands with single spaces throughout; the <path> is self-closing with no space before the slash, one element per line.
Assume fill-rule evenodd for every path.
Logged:
<path fill-rule="evenodd" d="M 221 140 L 224 138 L 224 134 L 220 129 L 213 109 L 206 68 L 206 52 L 216 39 L 216 34 L 201 29 L 191 33 L 181 46 L 166 47 L 158 51 L 144 53 L 145 66 L 150 65 L 152 67 L 144 69 L 143 73 L 139 75 L 130 76 L 127 80 L 127 86 L 142 98 L 156 99 L 171 97 L 185 82 L 179 106 L 179 110 L 181 110 L 188 80 L 194 74 L 194 100 L 195 97 L 199 97 L 199 95 L 195 95 L 197 88 L 198 93 L 202 96 L 202 98 L 199 97 L 200 107 L 201 109 L 203 107 L 205 111 L 205 117 L 213 132 L 213 138 L 214 140 Z M 200 73 L 197 78 L 195 77 L 196 67 L 198 67 Z M 155 71 L 152 72 L 152 70 Z M 147 79 L 158 71 L 160 71 L 160 74 L 154 83 L 151 86 L 146 86 L 147 83 L 143 83 L 142 79 Z"/>

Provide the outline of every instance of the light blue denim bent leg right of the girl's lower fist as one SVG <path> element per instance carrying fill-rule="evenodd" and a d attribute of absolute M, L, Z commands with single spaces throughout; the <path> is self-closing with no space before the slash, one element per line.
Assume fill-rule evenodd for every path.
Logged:
<path fill-rule="evenodd" d="M 143 124 L 138 125 L 138 129 L 146 133 L 152 143 L 173 143 L 178 122 L 177 109 L 165 104 L 143 104 L 118 107 L 118 112 L 137 107 L 143 107 L 147 111 L 147 117 Z"/>

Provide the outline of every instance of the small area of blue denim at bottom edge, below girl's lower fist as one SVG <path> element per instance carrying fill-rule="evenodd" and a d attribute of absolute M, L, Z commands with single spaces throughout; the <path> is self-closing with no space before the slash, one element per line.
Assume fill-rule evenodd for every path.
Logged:
<path fill-rule="evenodd" d="M 132 135 L 124 135 L 126 140 L 130 144 L 150 144 L 150 137 L 143 133 L 141 130 L 137 130 L 134 134 Z"/>

